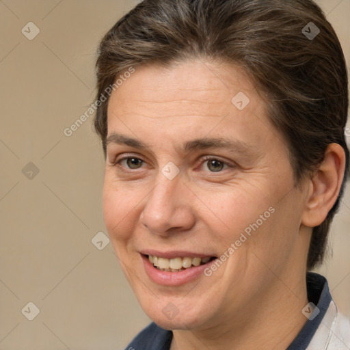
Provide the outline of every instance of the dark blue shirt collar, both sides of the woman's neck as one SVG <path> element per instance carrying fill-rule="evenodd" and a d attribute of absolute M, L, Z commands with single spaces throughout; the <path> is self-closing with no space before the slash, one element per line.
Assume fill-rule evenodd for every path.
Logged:
<path fill-rule="evenodd" d="M 325 316 L 329 303 L 332 301 L 327 280 L 323 276 L 309 272 L 306 276 L 306 283 L 308 288 L 308 300 L 316 305 L 320 312 L 312 321 L 309 319 L 306 322 L 297 337 L 286 350 L 305 350 L 308 347 Z M 125 350 L 170 350 L 171 342 L 172 331 L 162 329 L 152 322 L 137 334 Z"/>

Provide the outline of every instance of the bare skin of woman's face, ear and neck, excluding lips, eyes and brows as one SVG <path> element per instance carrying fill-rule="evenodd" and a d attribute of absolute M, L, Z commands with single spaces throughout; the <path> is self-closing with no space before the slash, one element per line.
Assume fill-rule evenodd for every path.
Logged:
<path fill-rule="evenodd" d="M 250 98 L 241 111 L 231 103 L 238 92 Z M 261 96 L 237 66 L 193 60 L 137 68 L 109 100 L 108 136 L 122 133 L 148 148 L 108 144 L 105 224 L 140 305 L 173 330 L 172 350 L 282 350 L 307 321 L 310 234 L 338 196 L 345 155 L 330 145 L 318 172 L 295 187 Z M 250 154 L 180 149 L 198 137 L 230 137 Z M 205 156 L 232 166 L 214 172 Z M 118 163 L 122 157 L 144 162 Z M 170 161 L 180 171 L 172 180 L 161 172 Z M 161 286 L 146 275 L 140 250 L 220 256 L 270 207 L 274 213 L 210 277 Z M 173 319 L 162 312 L 170 302 Z"/>

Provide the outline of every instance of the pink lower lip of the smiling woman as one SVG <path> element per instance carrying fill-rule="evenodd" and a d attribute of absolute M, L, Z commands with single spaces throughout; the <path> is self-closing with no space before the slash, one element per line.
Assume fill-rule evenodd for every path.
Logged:
<path fill-rule="evenodd" d="M 153 264 L 148 260 L 147 256 L 140 254 L 142 260 L 144 261 L 144 267 L 146 274 L 153 282 L 161 284 L 163 286 L 180 286 L 181 284 L 186 284 L 193 280 L 196 280 L 200 275 L 204 276 L 204 270 L 211 265 L 215 260 L 206 262 L 206 264 L 200 266 L 193 266 L 178 272 L 168 272 L 161 271 L 153 266 Z"/>

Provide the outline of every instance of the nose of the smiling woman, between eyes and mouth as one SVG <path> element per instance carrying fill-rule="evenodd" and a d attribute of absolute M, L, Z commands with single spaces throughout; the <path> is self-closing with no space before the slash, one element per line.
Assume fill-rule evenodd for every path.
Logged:
<path fill-rule="evenodd" d="M 159 172 L 157 185 L 146 198 L 139 220 L 153 234 L 166 237 L 190 230 L 195 224 L 191 206 L 195 196 L 183 183 L 180 174 L 170 180 Z"/>

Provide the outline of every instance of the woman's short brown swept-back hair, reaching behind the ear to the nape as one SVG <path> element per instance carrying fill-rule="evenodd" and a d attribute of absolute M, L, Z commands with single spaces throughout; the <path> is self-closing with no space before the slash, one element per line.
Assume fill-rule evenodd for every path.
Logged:
<path fill-rule="evenodd" d="M 131 66 L 201 57 L 239 64 L 267 95 L 269 118 L 288 145 L 296 185 L 317 169 L 329 144 L 344 148 L 340 195 L 312 231 L 307 265 L 316 267 L 349 176 L 347 68 L 332 25 L 311 0 L 144 0 L 100 42 L 97 98 Z M 108 98 L 94 120 L 105 155 L 107 105 Z"/>

